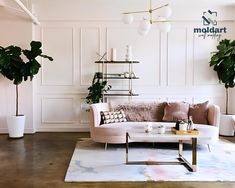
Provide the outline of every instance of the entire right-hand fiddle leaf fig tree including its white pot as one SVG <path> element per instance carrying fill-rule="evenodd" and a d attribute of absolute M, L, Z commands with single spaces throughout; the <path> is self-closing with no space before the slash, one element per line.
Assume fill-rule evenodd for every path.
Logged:
<path fill-rule="evenodd" d="M 226 91 L 226 113 L 221 114 L 220 134 L 234 136 L 235 116 L 229 114 L 229 88 L 235 86 L 235 40 L 224 39 L 219 42 L 217 52 L 213 52 L 210 66 L 217 72 L 219 81 L 224 84 Z"/>

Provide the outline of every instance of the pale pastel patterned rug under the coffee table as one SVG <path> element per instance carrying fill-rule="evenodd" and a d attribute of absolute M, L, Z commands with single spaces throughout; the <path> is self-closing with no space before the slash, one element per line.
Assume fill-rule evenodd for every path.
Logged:
<path fill-rule="evenodd" d="M 235 144 L 220 140 L 212 145 L 198 146 L 196 172 L 183 165 L 126 165 L 125 146 L 104 145 L 91 140 L 78 141 L 68 167 L 65 182 L 106 181 L 234 181 Z M 129 160 L 176 161 L 176 144 L 132 143 Z M 191 161 L 191 146 L 186 145 L 183 155 Z"/>

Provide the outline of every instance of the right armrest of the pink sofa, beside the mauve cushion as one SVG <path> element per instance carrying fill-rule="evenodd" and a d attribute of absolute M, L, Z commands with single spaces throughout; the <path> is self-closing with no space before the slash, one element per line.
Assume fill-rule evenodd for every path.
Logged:
<path fill-rule="evenodd" d="M 208 107 L 208 123 L 219 127 L 220 124 L 220 107 L 214 104 L 209 104 Z"/>

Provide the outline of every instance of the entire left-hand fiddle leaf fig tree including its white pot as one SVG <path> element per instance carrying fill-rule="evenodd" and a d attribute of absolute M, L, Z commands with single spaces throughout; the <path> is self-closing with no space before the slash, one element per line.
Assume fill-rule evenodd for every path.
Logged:
<path fill-rule="evenodd" d="M 38 56 L 53 61 L 52 57 L 42 54 L 41 42 L 32 41 L 30 46 L 30 50 L 18 46 L 0 46 L 0 73 L 16 86 L 16 112 L 7 118 L 10 138 L 22 138 L 24 135 L 25 116 L 19 114 L 19 85 L 28 78 L 32 81 L 38 73 L 41 67 L 36 60 Z"/>

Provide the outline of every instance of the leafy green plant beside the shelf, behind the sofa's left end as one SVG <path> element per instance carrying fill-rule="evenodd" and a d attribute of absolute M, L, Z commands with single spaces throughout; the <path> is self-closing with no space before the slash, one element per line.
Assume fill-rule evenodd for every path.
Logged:
<path fill-rule="evenodd" d="M 103 80 L 103 74 L 96 72 L 92 85 L 88 88 L 89 93 L 86 97 L 87 104 L 99 103 L 103 101 L 103 94 L 111 89 L 111 85 L 107 85 L 107 81 Z"/>

